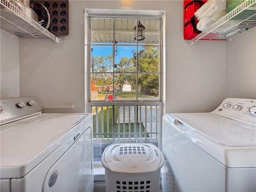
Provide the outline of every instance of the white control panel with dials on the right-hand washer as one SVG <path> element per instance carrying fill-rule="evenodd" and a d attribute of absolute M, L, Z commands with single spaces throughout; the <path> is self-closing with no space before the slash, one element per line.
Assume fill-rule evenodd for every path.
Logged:
<path fill-rule="evenodd" d="M 256 126 L 256 100 L 226 98 L 211 113 Z"/>

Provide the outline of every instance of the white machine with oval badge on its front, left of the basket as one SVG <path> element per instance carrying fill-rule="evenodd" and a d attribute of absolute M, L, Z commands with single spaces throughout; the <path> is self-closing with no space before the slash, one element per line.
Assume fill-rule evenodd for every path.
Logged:
<path fill-rule="evenodd" d="M 92 114 L 41 113 L 33 97 L 0 102 L 1 192 L 93 192 Z"/>

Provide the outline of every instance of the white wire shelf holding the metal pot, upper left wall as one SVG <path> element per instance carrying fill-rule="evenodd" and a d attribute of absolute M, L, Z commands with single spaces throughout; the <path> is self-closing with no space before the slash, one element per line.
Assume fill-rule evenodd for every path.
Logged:
<path fill-rule="evenodd" d="M 51 38 L 55 42 L 60 40 L 9 0 L 0 0 L 0 29 L 17 37 Z"/>

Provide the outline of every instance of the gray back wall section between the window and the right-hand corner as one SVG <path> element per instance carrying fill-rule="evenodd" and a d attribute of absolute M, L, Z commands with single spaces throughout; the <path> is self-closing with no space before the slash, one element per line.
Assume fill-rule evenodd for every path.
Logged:
<path fill-rule="evenodd" d="M 166 9 L 165 112 L 206 112 L 225 94 L 225 41 L 183 40 L 183 1 Z"/>

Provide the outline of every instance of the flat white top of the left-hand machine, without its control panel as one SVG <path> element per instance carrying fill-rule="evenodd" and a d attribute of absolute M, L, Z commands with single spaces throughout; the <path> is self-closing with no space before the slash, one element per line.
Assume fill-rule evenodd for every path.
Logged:
<path fill-rule="evenodd" d="M 86 117 L 39 114 L 1 126 L 1 179 L 25 176 L 72 136 Z"/>

